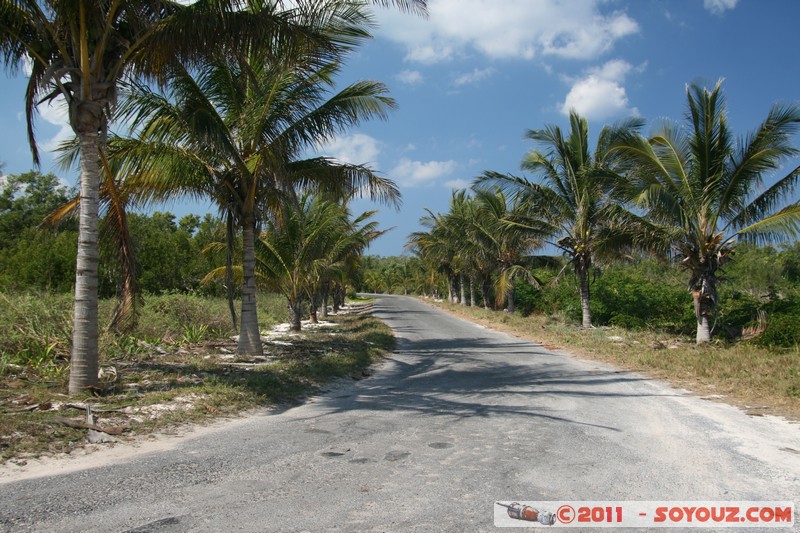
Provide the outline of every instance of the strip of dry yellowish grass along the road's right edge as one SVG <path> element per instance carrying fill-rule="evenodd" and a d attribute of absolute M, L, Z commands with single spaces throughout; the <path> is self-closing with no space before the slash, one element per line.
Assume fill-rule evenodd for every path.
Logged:
<path fill-rule="evenodd" d="M 431 302 L 433 303 L 433 302 Z M 759 416 L 800 420 L 800 352 L 746 342 L 698 347 L 693 339 L 436 303 L 445 311 L 580 357 L 642 372 Z"/>

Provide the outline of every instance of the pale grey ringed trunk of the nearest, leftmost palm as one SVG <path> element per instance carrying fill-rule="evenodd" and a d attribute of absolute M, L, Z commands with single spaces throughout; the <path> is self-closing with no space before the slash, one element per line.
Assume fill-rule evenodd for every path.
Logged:
<path fill-rule="evenodd" d="M 69 393 L 97 386 L 97 212 L 100 203 L 98 134 L 78 133 L 80 142 L 80 222 L 75 269 L 75 317 L 69 367 Z"/>

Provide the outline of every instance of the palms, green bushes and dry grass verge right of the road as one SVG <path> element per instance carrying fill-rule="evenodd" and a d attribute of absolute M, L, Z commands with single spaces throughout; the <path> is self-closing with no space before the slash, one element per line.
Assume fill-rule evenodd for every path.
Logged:
<path fill-rule="evenodd" d="M 797 416 L 800 107 L 776 104 L 737 137 L 721 82 L 686 99 L 683 121 L 647 136 L 631 119 L 590 145 L 575 112 L 568 130 L 528 131 L 528 175 L 486 171 L 453 191 L 410 256 L 363 262 L 360 289 Z"/>

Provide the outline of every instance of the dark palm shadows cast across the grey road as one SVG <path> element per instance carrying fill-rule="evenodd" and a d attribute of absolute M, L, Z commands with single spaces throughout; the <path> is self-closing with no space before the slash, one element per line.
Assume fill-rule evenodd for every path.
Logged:
<path fill-rule="evenodd" d="M 424 416 L 538 418 L 618 428 L 581 420 L 581 413 L 555 409 L 554 397 L 582 402 L 597 398 L 676 396 L 641 386 L 649 378 L 614 369 L 576 369 L 574 361 L 527 342 L 495 338 L 401 338 L 392 361 L 348 394 L 319 399 L 326 416 L 348 411 L 411 411 Z M 573 402 L 570 402 L 573 403 Z"/>

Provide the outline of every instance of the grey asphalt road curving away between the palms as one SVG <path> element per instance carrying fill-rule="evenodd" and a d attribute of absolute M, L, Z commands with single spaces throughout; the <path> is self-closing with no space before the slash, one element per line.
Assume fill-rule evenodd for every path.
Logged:
<path fill-rule="evenodd" d="M 102 466 L 0 477 L 0 529 L 492 531 L 496 500 L 800 500 L 797 424 L 409 298 L 375 310 L 399 343 L 370 378 L 85 459 Z"/>

